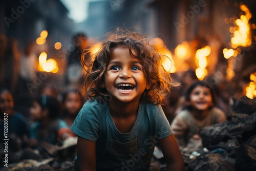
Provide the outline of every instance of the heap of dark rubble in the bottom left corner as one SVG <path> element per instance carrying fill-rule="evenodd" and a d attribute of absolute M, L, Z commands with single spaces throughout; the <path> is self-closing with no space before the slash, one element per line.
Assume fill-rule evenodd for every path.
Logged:
<path fill-rule="evenodd" d="M 8 167 L 2 164 L 0 170 L 74 170 L 77 138 L 68 138 L 62 145 L 52 145 L 42 142 L 36 149 L 31 149 L 28 145 L 23 144 L 15 135 L 9 136 L 9 142 Z M 0 154 L 1 157 L 3 155 L 2 153 Z"/>

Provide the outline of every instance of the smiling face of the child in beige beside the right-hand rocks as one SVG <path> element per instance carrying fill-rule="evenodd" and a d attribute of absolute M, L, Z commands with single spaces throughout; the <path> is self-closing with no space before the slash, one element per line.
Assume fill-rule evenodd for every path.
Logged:
<path fill-rule="evenodd" d="M 190 94 L 190 105 L 200 111 L 208 110 L 213 105 L 210 90 L 203 86 L 197 86 Z"/>

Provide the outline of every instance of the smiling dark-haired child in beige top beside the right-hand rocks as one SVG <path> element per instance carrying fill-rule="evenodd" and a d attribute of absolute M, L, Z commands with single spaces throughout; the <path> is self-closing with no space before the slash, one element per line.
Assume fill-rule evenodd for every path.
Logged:
<path fill-rule="evenodd" d="M 196 151 L 201 145 L 200 129 L 226 120 L 225 114 L 215 107 L 215 103 L 214 88 L 205 81 L 196 81 L 187 89 L 186 109 L 178 113 L 171 125 L 182 152 Z"/>

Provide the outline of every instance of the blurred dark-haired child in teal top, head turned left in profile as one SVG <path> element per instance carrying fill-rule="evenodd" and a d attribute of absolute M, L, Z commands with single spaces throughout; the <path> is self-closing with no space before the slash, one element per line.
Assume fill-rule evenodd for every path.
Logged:
<path fill-rule="evenodd" d="M 30 146 L 36 146 L 38 142 L 61 144 L 66 138 L 74 136 L 65 121 L 58 118 L 59 104 L 56 98 L 46 95 L 35 98 L 30 113 L 34 121 Z"/>

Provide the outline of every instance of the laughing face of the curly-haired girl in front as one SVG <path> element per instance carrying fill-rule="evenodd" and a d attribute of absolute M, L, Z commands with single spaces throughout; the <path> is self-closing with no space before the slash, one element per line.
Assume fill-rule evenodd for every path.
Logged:
<path fill-rule="evenodd" d="M 136 54 L 132 50 L 133 54 Z M 110 55 L 110 62 L 104 75 L 104 87 L 114 99 L 122 102 L 139 100 L 146 83 L 140 59 L 132 57 L 128 48 L 117 47 Z"/>

